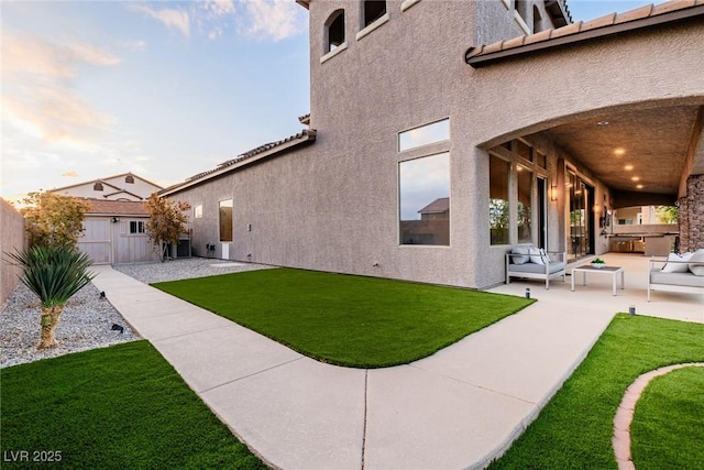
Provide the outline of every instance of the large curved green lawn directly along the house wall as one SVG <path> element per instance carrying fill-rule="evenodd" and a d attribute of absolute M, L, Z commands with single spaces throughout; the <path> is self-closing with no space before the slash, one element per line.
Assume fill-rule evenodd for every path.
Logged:
<path fill-rule="evenodd" d="M 302 270 L 154 284 L 318 360 L 381 368 L 425 358 L 535 300 Z"/>

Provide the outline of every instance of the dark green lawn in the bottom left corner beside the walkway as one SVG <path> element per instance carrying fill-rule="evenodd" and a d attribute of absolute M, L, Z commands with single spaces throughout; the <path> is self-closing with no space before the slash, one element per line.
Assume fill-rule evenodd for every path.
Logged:
<path fill-rule="evenodd" d="M 6 368 L 0 380 L 3 469 L 50 459 L 57 468 L 266 468 L 147 341 Z"/>

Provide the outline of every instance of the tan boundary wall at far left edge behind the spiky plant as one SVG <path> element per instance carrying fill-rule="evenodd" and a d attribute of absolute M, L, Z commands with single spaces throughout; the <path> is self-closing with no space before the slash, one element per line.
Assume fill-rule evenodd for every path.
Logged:
<path fill-rule="evenodd" d="M 6 253 L 26 247 L 24 217 L 10 203 L 0 198 L 0 306 L 20 282 L 21 270 L 7 261 Z"/>

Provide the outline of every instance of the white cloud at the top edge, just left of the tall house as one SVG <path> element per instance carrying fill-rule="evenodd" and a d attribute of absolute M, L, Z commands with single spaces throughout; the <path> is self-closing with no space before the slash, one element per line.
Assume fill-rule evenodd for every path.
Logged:
<path fill-rule="evenodd" d="M 305 26 L 300 6 L 285 0 L 249 0 L 246 33 L 280 41 L 300 33 Z"/>

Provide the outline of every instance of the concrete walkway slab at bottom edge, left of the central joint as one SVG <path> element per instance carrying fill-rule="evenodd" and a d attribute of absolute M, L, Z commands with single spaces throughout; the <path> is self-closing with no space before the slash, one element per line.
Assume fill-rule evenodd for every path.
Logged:
<path fill-rule="evenodd" d="M 302 358 L 201 393 L 268 464 L 360 469 L 366 371 Z"/>

